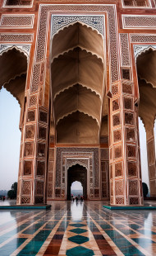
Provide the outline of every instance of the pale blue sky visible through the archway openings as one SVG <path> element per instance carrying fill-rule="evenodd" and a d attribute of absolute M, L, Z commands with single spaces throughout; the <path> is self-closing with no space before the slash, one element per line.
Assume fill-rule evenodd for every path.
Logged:
<path fill-rule="evenodd" d="M 11 184 L 17 181 L 21 144 L 20 111 L 16 98 L 2 88 L 0 91 L 0 190 L 9 190 Z M 140 121 L 140 149 L 142 180 L 149 184 L 146 136 L 142 121 Z M 79 189 L 77 186 L 75 189 Z"/>

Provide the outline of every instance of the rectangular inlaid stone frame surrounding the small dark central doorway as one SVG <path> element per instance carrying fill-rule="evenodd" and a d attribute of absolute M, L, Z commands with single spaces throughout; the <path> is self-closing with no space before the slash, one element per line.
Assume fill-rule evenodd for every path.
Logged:
<path fill-rule="evenodd" d="M 101 197 L 100 171 L 99 171 L 99 148 L 58 148 L 56 153 L 55 189 L 62 191 L 60 200 L 67 199 L 67 170 L 73 165 L 80 164 L 87 169 L 88 198 L 99 200 Z M 62 179 L 65 181 L 62 182 Z M 93 187 L 89 186 L 89 180 L 93 178 Z M 90 189 L 89 189 L 90 187 Z M 94 197 L 94 189 L 99 189 L 99 197 Z"/>

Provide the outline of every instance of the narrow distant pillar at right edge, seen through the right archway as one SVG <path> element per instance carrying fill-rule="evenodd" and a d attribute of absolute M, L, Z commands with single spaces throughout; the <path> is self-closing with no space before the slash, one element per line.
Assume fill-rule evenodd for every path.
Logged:
<path fill-rule="evenodd" d="M 147 159 L 149 168 L 149 190 L 150 196 L 156 197 L 156 165 L 155 165 L 155 142 L 154 125 L 145 123 Z"/>

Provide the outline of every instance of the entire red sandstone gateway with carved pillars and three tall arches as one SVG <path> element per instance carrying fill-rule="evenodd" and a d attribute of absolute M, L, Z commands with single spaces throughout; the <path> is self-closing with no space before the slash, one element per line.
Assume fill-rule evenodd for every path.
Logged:
<path fill-rule="evenodd" d="M 143 205 L 138 117 L 156 197 L 154 0 L 4 0 L 0 88 L 21 106 L 17 204 Z"/>

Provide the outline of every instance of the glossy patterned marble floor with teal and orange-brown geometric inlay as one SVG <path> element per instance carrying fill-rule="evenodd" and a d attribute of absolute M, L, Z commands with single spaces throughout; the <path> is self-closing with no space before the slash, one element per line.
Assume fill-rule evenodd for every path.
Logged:
<path fill-rule="evenodd" d="M 0 211 L 0 255 L 156 255 L 156 211 L 103 201 L 53 201 L 47 211 Z"/>

